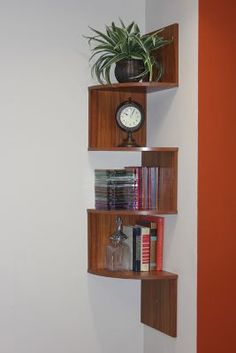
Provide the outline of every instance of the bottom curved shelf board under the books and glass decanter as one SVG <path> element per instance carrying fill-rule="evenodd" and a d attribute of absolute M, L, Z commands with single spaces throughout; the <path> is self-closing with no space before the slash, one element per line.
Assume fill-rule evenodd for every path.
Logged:
<path fill-rule="evenodd" d="M 178 275 L 166 271 L 148 271 L 148 272 L 134 272 L 134 271 L 108 271 L 105 269 L 88 270 L 88 273 L 120 279 L 138 279 L 138 280 L 169 280 L 177 279 Z"/>

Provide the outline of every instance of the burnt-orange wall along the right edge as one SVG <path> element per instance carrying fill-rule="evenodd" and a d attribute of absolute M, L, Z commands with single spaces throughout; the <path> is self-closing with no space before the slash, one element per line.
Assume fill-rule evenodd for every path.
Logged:
<path fill-rule="evenodd" d="M 236 352 L 235 33 L 235 0 L 199 0 L 197 353 Z"/>

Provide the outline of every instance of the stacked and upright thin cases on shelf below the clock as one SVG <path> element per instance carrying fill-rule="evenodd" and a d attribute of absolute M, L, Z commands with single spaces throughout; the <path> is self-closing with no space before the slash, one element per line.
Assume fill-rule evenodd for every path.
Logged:
<path fill-rule="evenodd" d="M 158 168 L 125 167 L 95 170 L 97 209 L 157 209 Z"/>

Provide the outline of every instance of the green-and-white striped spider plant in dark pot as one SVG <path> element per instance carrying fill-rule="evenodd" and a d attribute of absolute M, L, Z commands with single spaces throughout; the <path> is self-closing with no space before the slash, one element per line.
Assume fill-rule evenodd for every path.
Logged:
<path fill-rule="evenodd" d="M 106 26 L 105 33 L 89 28 L 95 33 L 93 36 L 84 36 L 92 46 L 90 61 L 95 60 L 91 72 L 101 84 L 111 83 L 113 64 L 118 82 L 152 81 L 154 68 L 158 71 L 156 80 L 161 78 L 161 63 L 152 53 L 171 42 L 159 35 L 161 30 L 142 35 L 134 21 L 125 26 L 122 20 L 120 26 L 114 22 Z"/>

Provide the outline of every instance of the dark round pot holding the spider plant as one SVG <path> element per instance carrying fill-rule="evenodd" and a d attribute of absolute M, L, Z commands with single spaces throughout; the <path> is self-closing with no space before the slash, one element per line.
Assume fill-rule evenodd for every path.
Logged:
<path fill-rule="evenodd" d="M 116 63 L 115 77 L 118 82 L 138 82 L 142 77 L 135 78 L 135 76 L 142 72 L 144 72 L 142 60 L 124 59 Z"/>

